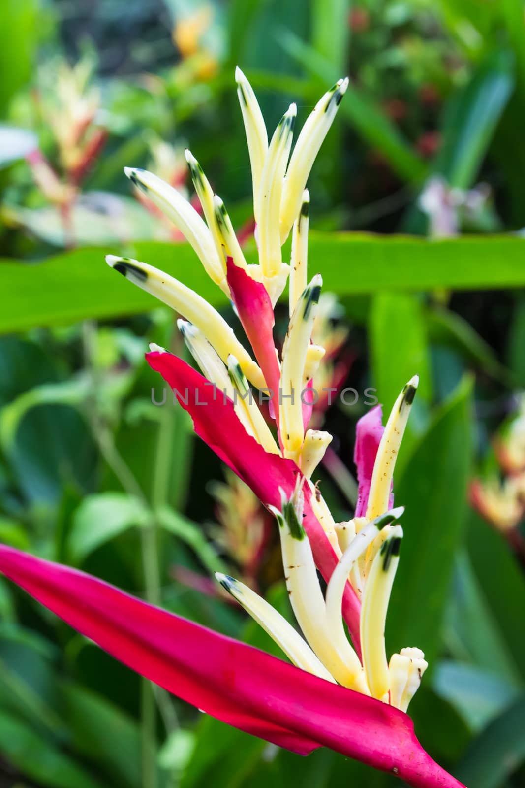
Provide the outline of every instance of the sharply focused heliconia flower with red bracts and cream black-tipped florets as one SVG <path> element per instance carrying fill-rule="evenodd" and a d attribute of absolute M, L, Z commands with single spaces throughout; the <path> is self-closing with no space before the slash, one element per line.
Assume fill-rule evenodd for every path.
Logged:
<path fill-rule="evenodd" d="M 384 429 L 380 408 L 358 424 L 355 518 L 336 523 L 312 482 L 331 435 L 308 425 L 324 348 L 312 342 L 322 278 L 307 277 L 305 183 L 348 83 L 340 80 L 316 105 L 289 163 L 294 105 L 268 143 L 250 84 L 240 71 L 236 80 L 253 171 L 257 265 L 246 263 L 224 203 L 191 154 L 187 161 L 206 221 L 152 173 L 127 168 L 126 174 L 165 210 L 231 296 L 255 360 L 222 315 L 174 277 L 137 260 L 109 256 L 107 262 L 184 318 L 179 329 L 204 375 L 157 345 L 146 359 L 190 413 L 198 436 L 275 516 L 302 634 L 253 589 L 224 574 L 217 579 L 295 667 L 8 548 L 0 548 L 0 570 L 118 659 L 227 723 L 298 753 L 332 747 L 412 786 L 458 786 L 420 748 L 404 713 L 427 667 L 423 652 L 401 649 L 389 660 L 385 649 L 403 538 L 397 522 L 403 507 L 393 508 L 392 481 L 416 376 L 397 397 Z M 290 227 L 288 265 L 282 244 Z M 273 307 L 289 276 L 290 322 L 278 355 Z M 276 435 L 250 384 L 271 400 Z"/>

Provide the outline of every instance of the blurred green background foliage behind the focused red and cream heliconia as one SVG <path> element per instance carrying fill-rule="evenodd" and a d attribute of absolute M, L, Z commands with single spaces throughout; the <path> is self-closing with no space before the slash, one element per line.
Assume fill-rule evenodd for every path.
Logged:
<path fill-rule="evenodd" d="M 494 469 L 491 437 L 525 386 L 522 0 L 4 0 L 2 23 L 0 539 L 147 596 L 153 536 L 161 604 L 275 649 L 209 582 L 213 569 L 246 568 L 213 536 L 205 485 L 223 478 L 220 463 L 186 414 L 152 401 L 143 351 L 182 352 L 174 316 L 123 287 L 102 255 L 182 272 L 233 318 L 122 168 L 187 189 L 178 162 L 190 143 L 241 228 L 251 207 L 235 65 L 270 127 L 291 100 L 301 123 L 348 73 L 309 180 L 309 258 L 352 325 L 346 385 L 375 386 L 388 409 L 422 378 L 395 479 L 406 538 L 387 650 L 414 641 L 430 656 L 411 714 L 435 758 L 472 788 L 525 786 L 523 571 L 468 509 L 469 480 Z M 66 62 L 89 77 L 53 124 Z M 73 111 L 89 91 L 103 147 Z M 66 165 L 72 129 L 66 152 L 81 151 L 81 172 Z M 363 412 L 338 403 L 326 415 L 351 471 Z M 341 478 L 320 475 L 347 519 Z M 258 582 L 289 615 L 280 577 L 273 534 Z M 139 788 L 145 761 L 148 788 L 397 784 L 326 750 L 278 751 L 164 695 L 152 738 L 147 693 L 0 578 L 2 786 Z"/>

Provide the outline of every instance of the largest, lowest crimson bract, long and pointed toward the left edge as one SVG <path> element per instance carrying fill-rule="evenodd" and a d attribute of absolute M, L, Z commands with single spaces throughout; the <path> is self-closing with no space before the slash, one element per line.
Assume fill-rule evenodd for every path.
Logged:
<path fill-rule="evenodd" d="M 0 545 L 0 571 L 133 670 L 213 716 L 308 753 L 326 745 L 409 785 L 458 788 L 411 719 L 75 569 Z"/>

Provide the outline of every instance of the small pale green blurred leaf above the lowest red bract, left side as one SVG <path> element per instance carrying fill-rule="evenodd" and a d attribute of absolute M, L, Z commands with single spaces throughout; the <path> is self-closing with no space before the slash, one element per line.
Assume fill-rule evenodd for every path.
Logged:
<path fill-rule="evenodd" d="M 84 498 L 73 516 L 69 551 L 76 563 L 120 533 L 145 526 L 150 517 L 141 501 L 125 492 L 100 492 Z"/>

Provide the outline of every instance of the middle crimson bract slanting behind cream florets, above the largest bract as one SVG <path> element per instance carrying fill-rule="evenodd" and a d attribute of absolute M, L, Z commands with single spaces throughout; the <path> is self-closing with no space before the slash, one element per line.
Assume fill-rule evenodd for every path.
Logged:
<path fill-rule="evenodd" d="M 283 488 L 287 496 L 291 496 L 300 473 L 298 466 L 291 459 L 265 452 L 257 440 L 246 433 L 231 400 L 224 401 L 224 397 L 214 391 L 209 381 L 182 359 L 172 353 L 153 351 L 146 353 L 146 360 L 173 389 L 187 392 L 188 396 L 184 399 L 179 397 L 179 402 L 193 419 L 198 436 L 246 482 L 265 506 L 279 508 L 279 487 Z M 328 582 L 338 563 L 338 556 L 313 513 L 311 497 L 309 487 L 305 486 L 303 525 L 312 545 L 316 566 Z M 346 584 L 342 610 L 359 653 L 360 601 L 349 583 Z"/>

